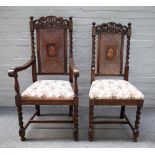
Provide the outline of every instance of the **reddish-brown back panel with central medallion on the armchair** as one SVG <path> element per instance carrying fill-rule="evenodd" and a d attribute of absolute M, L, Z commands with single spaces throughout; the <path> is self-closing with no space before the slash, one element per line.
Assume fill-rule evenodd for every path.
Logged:
<path fill-rule="evenodd" d="M 39 73 L 67 72 L 67 30 L 47 28 L 37 30 Z"/>

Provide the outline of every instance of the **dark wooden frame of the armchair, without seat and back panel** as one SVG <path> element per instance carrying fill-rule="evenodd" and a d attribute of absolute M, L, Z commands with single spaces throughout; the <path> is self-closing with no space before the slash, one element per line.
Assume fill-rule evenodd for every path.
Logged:
<path fill-rule="evenodd" d="M 65 49 L 65 57 L 64 57 L 64 72 L 57 73 L 57 68 L 55 68 L 55 72 L 46 72 L 43 73 L 40 70 L 40 65 L 38 65 L 38 72 L 37 72 L 37 59 L 35 54 L 35 37 L 34 32 L 39 31 L 40 29 L 61 29 L 65 31 L 65 35 L 69 33 L 69 71 L 67 71 L 67 40 L 64 40 L 64 49 Z M 74 124 L 74 140 L 78 141 L 78 83 L 77 78 L 79 77 L 79 70 L 74 64 L 73 60 L 73 22 L 72 17 L 67 19 L 63 19 L 62 17 L 55 17 L 55 16 L 47 16 L 47 17 L 40 17 L 39 19 L 33 20 L 33 17 L 30 17 L 30 34 L 31 34 L 31 49 L 32 55 L 31 59 L 21 67 L 11 68 L 8 71 L 8 75 L 10 77 L 14 77 L 15 79 L 15 103 L 17 106 L 18 112 L 18 119 L 19 119 L 19 135 L 21 137 L 21 141 L 25 140 L 25 130 L 30 123 L 73 123 Z M 37 38 L 38 39 L 38 38 Z M 48 38 L 47 38 L 48 39 Z M 65 38 L 64 38 L 65 39 Z M 59 48 L 59 47 L 57 47 Z M 38 47 L 37 47 L 38 49 Z M 39 55 L 37 55 L 39 56 Z M 32 99 L 24 99 L 21 97 L 20 93 L 20 85 L 18 81 L 18 72 L 26 70 L 27 68 L 32 67 L 32 81 L 37 81 L 37 75 L 44 75 L 44 74 L 63 74 L 69 75 L 69 81 L 71 82 L 73 91 L 74 91 L 74 98 L 72 99 L 51 99 L 51 100 L 32 100 Z M 36 112 L 32 115 L 30 120 L 23 125 L 23 116 L 22 116 L 22 106 L 23 105 L 35 105 Z M 40 114 L 40 105 L 67 105 L 69 106 L 69 115 L 72 116 L 72 121 L 64 121 L 64 120 L 33 120 L 33 118 L 37 116 L 42 116 Z"/>

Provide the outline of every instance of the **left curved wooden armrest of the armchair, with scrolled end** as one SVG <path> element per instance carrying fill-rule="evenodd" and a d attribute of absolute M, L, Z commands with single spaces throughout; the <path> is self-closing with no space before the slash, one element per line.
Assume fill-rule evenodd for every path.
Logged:
<path fill-rule="evenodd" d="M 34 62 L 35 62 L 35 59 L 31 58 L 23 66 L 15 67 L 15 68 L 10 68 L 9 71 L 8 71 L 8 76 L 16 77 L 18 72 L 23 71 L 23 70 L 29 68 Z"/>

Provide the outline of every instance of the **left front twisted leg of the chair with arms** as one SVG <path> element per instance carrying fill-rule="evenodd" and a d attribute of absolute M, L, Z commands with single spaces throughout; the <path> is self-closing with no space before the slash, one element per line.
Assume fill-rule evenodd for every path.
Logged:
<path fill-rule="evenodd" d="M 23 127 L 23 116 L 22 116 L 22 106 L 17 105 L 18 112 L 18 120 L 19 120 L 19 136 L 21 137 L 21 141 L 25 141 L 25 129 Z"/>

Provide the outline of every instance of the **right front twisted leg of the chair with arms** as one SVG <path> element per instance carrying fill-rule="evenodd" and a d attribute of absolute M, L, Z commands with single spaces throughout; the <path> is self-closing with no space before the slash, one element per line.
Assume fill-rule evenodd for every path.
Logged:
<path fill-rule="evenodd" d="M 73 131 L 73 135 L 74 135 L 74 140 L 78 141 L 78 137 L 79 137 L 79 131 L 78 131 L 78 104 L 76 103 L 74 105 L 74 116 L 73 116 L 73 121 L 74 121 L 74 131 Z"/>

